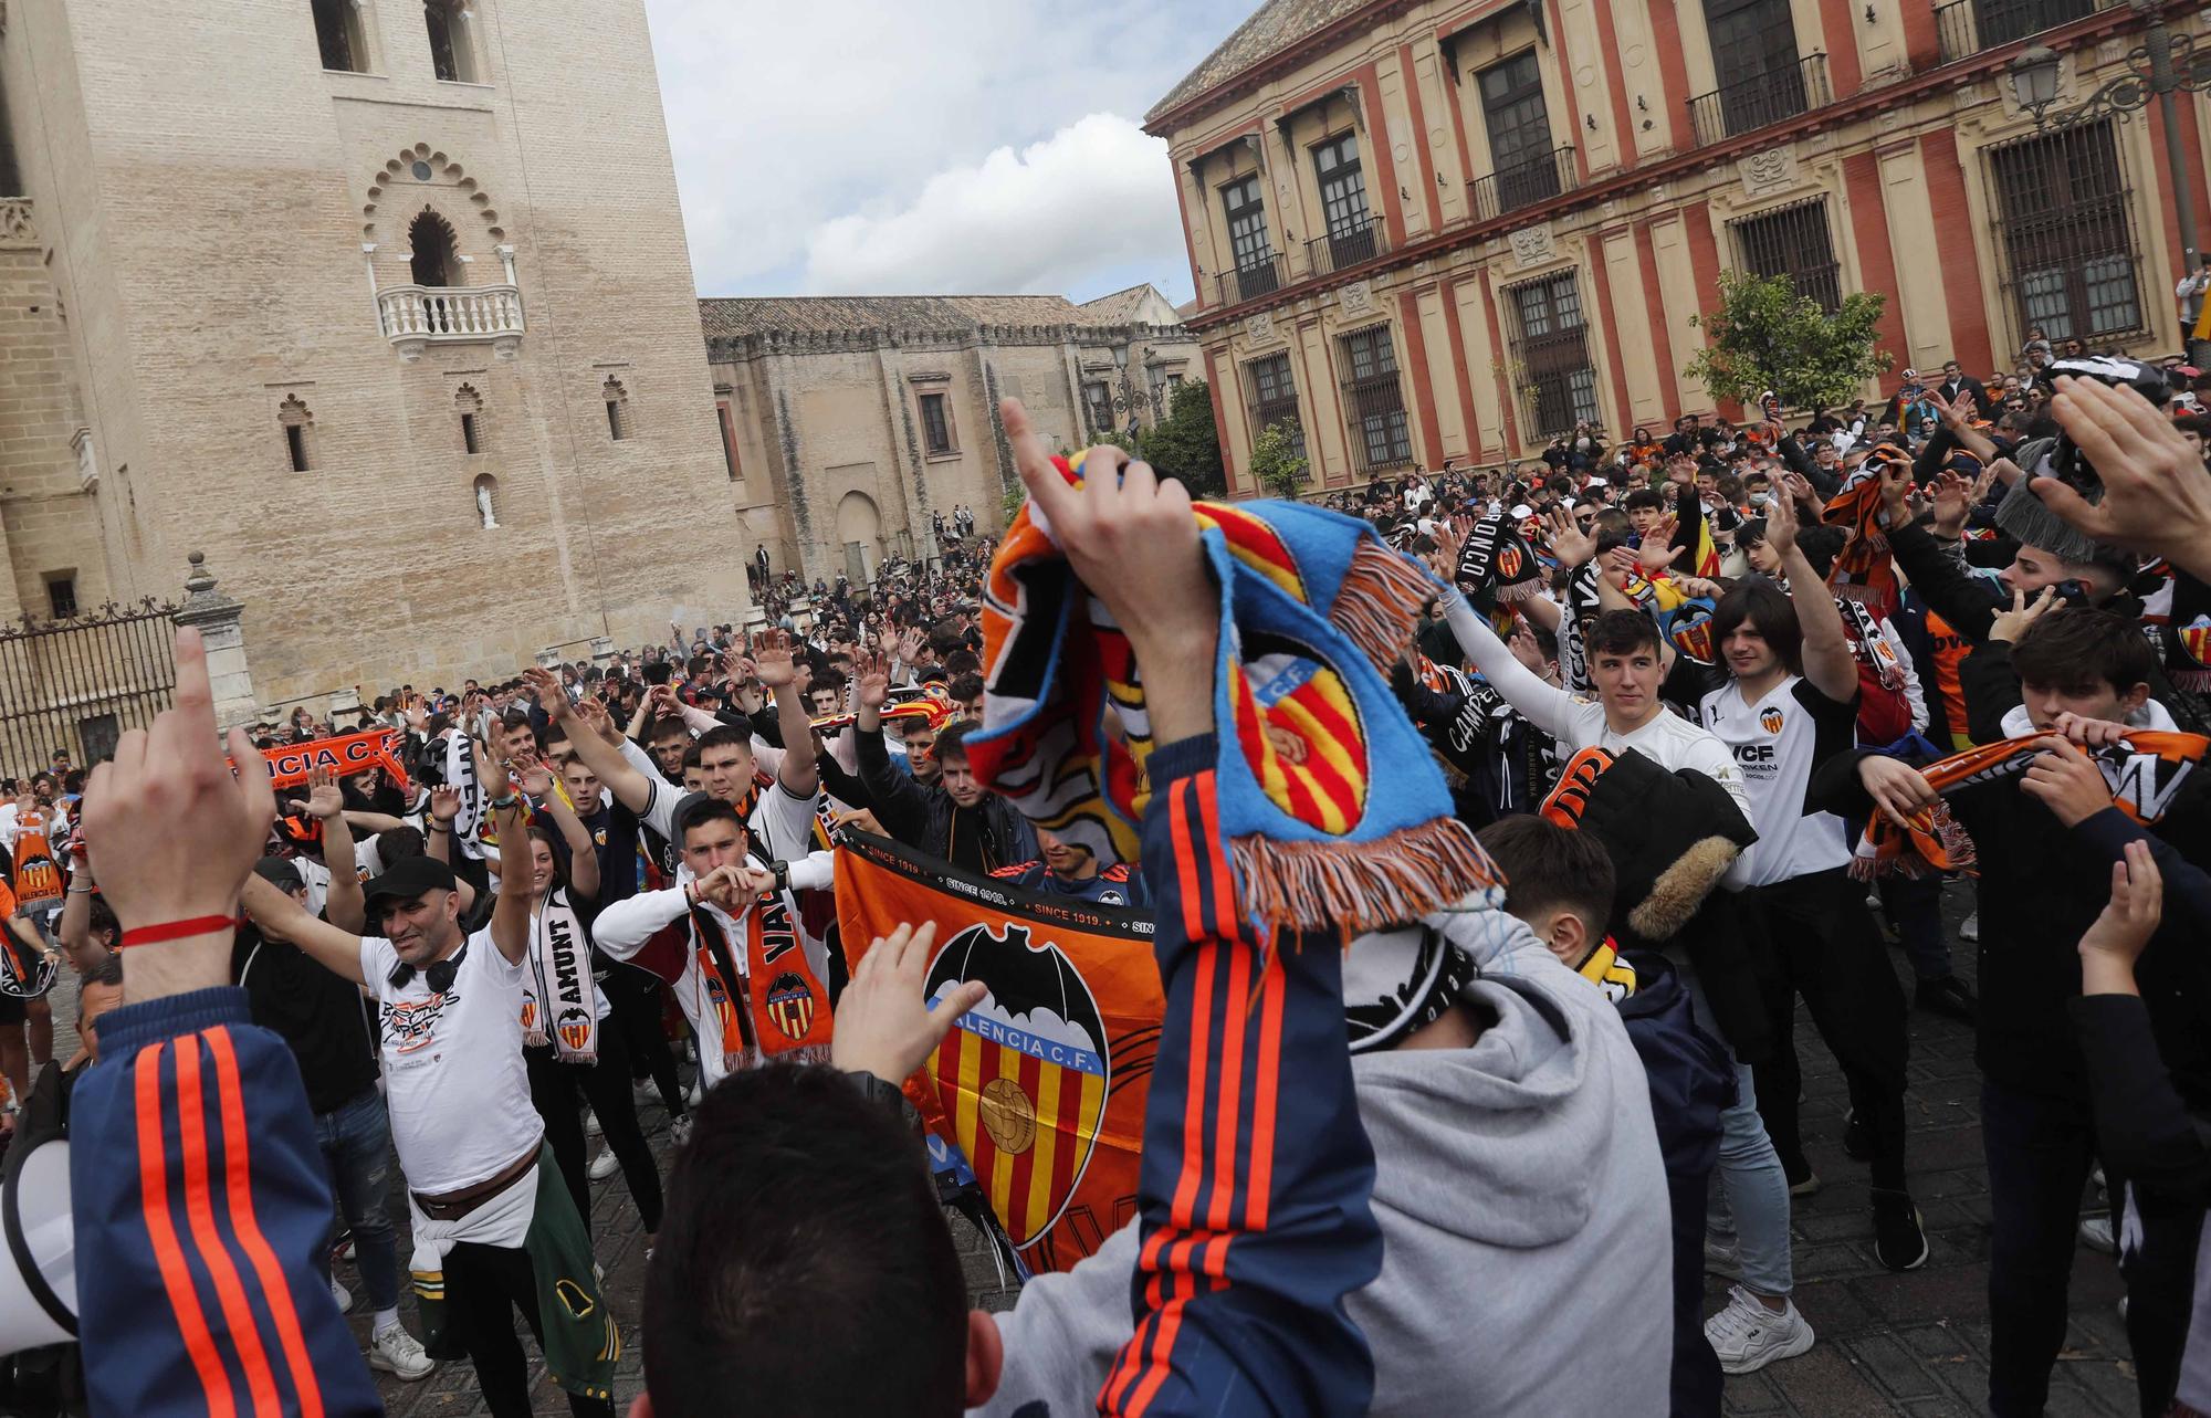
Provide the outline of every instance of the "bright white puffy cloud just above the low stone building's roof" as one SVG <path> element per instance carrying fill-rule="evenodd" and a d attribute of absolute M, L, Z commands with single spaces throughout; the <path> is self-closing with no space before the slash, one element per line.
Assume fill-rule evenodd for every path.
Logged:
<path fill-rule="evenodd" d="M 1052 294 L 1145 258 L 1159 258 L 1159 278 L 1187 281 L 1167 144 L 1092 113 L 1019 152 L 946 168 L 895 210 L 822 223 L 807 241 L 807 289 Z"/>

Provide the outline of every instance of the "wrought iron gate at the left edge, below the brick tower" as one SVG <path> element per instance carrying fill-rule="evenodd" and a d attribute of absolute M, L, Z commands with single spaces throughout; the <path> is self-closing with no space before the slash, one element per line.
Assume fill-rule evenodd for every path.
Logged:
<path fill-rule="evenodd" d="M 29 777 L 66 749 L 75 766 L 115 753 L 177 687 L 177 607 L 146 596 L 62 621 L 0 625 L 0 777 Z"/>

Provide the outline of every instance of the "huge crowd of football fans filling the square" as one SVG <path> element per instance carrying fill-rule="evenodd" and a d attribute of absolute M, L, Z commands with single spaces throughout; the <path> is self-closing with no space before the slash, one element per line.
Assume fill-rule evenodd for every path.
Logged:
<path fill-rule="evenodd" d="M 1176 484 L 1112 448 L 1075 482 L 1015 402 L 1030 508 L 1141 678 L 1106 716 L 1145 749 L 1128 861 L 1024 813 L 986 751 L 1037 694 L 984 658 L 993 599 L 1059 607 L 993 574 L 1019 528 L 1002 554 L 966 517 L 865 588 L 763 559 L 767 625 L 301 709 L 232 733 L 237 780 L 186 634 L 175 711 L 88 789 L 64 758 L 0 808 L 22 1118 L 44 983 L 82 976 L 51 1089 L 91 1407 L 376 1411 L 369 1367 L 451 1361 L 528 1414 L 520 1312 L 577 1414 L 612 1411 L 637 1321 L 641 1405 L 683 1416 L 1718 1414 L 1725 1374 L 1817 1343 L 1791 1301 L 1791 1206 L 1822 1186 L 1802 1001 L 1848 1087 L 1859 1239 L 1897 1272 L 1930 1252 L 1908 1012 L 1977 1029 L 1990 1409 L 2043 1411 L 2083 1230 L 2120 1255 L 2145 1416 L 2202 1409 L 2207 387 L 2076 353 L 1322 495 L 1424 568 L 1389 691 L 1349 694 L 1426 738 L 1479 844 L 1457 861 L 1486 864 L 1391 930 L 1258 921 L 1220 822 L 1254 689 L 1298 676 Z M 405 780 L 270 789 L 256 749 L 360 729 Z M 1278 773 L 1320 740 L 1265 742 Z M 1375 762 L 1369 791 L 1433 771 Z M 1139 1210 L 997 1316 L 966 1312 L 900 1096 L 979 985 L 924 1003 L 920 921 L 847 972 L 851 830 L 1159 923 Z M 1977 890 L 1977 987 L 1946 879 Z M 743 1007 L 765 961 L 822 992 L 798 1049 Z M 608 1314 L 590 1257 L 615 1173 L 641 1316 Z M 2092 1173 L 2109 1217 L 2083 1226 Z M 1714 1314 L 1705 1274 L 1731 1281 Z"/>

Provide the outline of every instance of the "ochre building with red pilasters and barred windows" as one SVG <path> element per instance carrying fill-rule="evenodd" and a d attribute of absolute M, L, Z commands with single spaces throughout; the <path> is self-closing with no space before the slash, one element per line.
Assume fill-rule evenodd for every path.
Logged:
<path fill-rule="evenodd" d="M 2156 106 L 2043 133 L 2005 77 L 2047 44 L 2085 99 L 2142 7 L 2204 35 L 2171 0 L 1267 0 L 1145 119 L 1232 486 L 1274 422 L 1342 486 L 1709 413 L 1722 267 L 1882 292 L 1897 371 L 2012 369 L 2034 325 L 2182 349 L 2211 102 L 2176 192 Z"/>

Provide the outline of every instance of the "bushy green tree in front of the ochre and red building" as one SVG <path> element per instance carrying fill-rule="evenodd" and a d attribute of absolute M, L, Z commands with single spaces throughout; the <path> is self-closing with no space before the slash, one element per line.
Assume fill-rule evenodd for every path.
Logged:
<path fill-rule="evenodd" d="M 1758 404 L 1773 391 L 1789 409 L 1837 409 L 1895 358 L 1873 347 L 1884 296 L 1857 292 L 1828 314 L 1789 276 L 1720 272 L 1720 309 L 1691 316 L 1705 349 L 1687 373 L 1716 400 Z"/>

